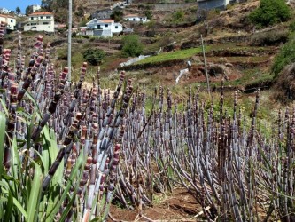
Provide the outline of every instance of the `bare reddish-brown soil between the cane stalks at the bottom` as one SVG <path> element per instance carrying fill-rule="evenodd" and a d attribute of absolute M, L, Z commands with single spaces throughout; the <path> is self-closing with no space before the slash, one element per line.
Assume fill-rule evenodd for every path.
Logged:
<path fill-rule="evenodd" d="M 107 221 L 196 221 L 196 216 L 202 211 L 200 205 L 186 189 L 176 188 L 172 194 L 157 196 L 151 208 L 143 209 L 140 218 L 137 210 L 124 210 L 111 206 L 111 216 Z"/>

